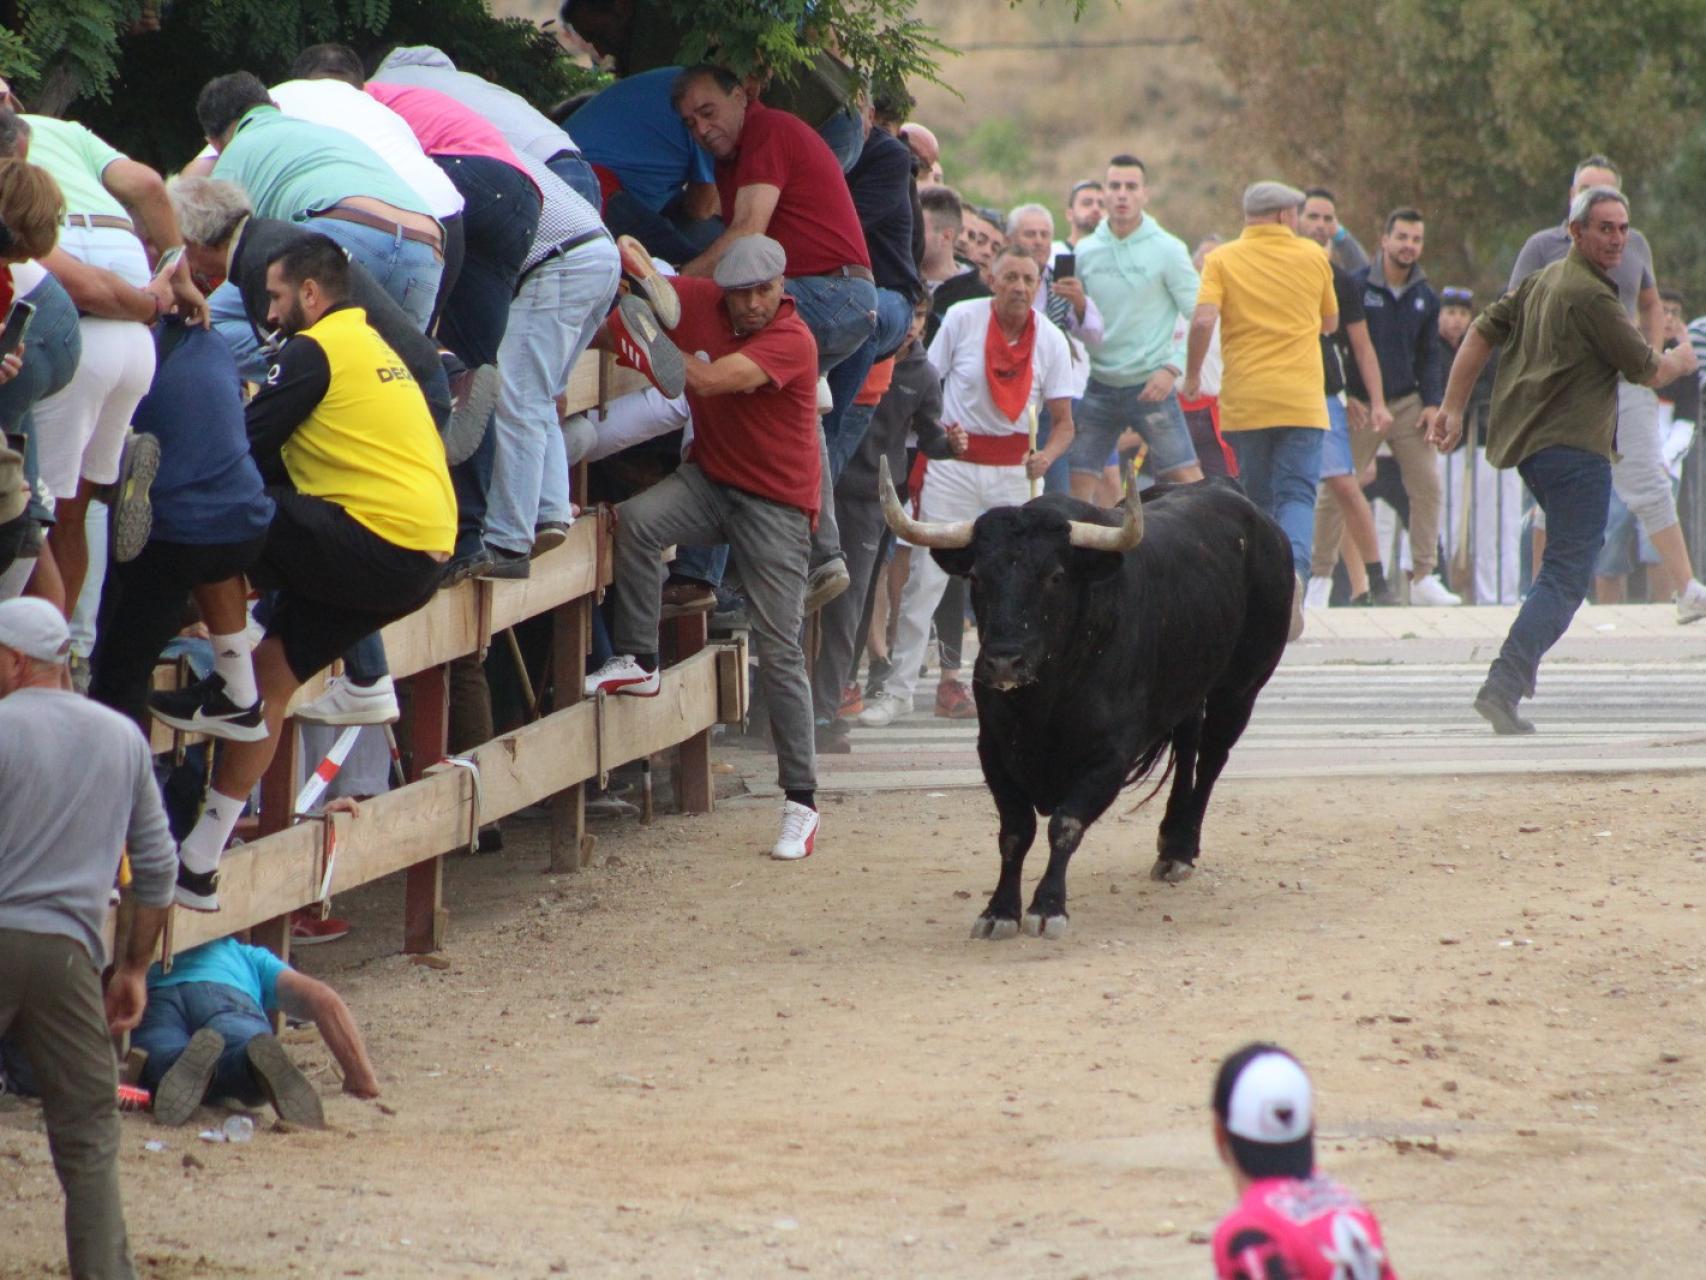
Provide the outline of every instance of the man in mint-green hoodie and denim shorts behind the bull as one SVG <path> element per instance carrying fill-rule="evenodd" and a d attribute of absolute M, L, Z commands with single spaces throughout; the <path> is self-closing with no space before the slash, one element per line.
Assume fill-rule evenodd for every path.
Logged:
<path fill-rule="evenodd" d="M 1184 372 L 1181 319 L 1196 309 L 1198 275 L 1184 241 L 1145 213 L 1146 171 L 1136 155 L 1107 162 L 1107 217 L 1078 241 L 1078 278 L 1102 312 L 1090 346 L 1090 386 L 1073 404 L 1066 457 L 1075 498 L 1088 500 L 1111 456 L 1148 445 L 1160 480 L 1203 478 L 1174 382 Z"/>

